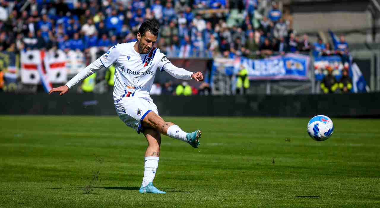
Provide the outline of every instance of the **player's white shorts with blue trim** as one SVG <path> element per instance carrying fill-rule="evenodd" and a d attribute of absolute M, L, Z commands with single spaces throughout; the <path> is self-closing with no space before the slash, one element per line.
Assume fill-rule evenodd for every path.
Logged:
<path fill-rule="evenodd" d="M 158 115 L 157 106 L 150 97 L 125 97 L 114 103 L 117 115 L 129 127 L 142 132 L 142 120 L 153 111 Z"/>

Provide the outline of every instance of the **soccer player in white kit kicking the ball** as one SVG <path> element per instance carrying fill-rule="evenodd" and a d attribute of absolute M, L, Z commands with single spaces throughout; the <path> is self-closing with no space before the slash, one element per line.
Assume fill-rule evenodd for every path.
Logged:
<path fill-rule="evenodd" d="M 158 168 L 161 134 L 189 143 L 198 148 L 201 131 L 184 132 L 178 125 L 164 121 L 157 106 L 149 96 L 157 69 L 165 70 L 177 79 L 203 81 L 203 74 L 193 73 L 174 66 L 160 49 L 154 48 L 158 36 L 158 22 L 144 21 L 137 33 L 137 41 L 112 46 L 103 56 L 92 62 L 64 86 L 51 89 L 66 94 L 71 87 L 95 73 L 102 67 L 115 66 L 114 105 L 120 119 L 129 127 L 144 133 L 148 141 L 145 152 L 144 178 L 140 193 L 166 194 L 153 186 Z"/>

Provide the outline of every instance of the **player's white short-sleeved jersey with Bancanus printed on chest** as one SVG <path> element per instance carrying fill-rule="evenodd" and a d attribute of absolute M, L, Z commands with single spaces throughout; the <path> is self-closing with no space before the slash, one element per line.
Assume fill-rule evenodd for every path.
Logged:
<path fill-rule="evenodd" d="M 140 54 L 133 46 L 136 42 L 112 46 L 103 56 L 101 63 L 108 68 L 115 66 L 114 101 L 123 97 L 149 97 L 157 68 L 160 70 L 170 61 L 158 48 Z"/>

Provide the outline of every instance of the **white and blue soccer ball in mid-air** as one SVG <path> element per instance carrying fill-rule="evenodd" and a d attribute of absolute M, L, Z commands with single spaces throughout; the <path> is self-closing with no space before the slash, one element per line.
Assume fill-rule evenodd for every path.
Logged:
<path fill-rule="evenodd" d="M 334 124 L 327 116 L 314 116 L 307 123 L 307 133 L 315 141 L 325 141 L 334 132 Z"/>

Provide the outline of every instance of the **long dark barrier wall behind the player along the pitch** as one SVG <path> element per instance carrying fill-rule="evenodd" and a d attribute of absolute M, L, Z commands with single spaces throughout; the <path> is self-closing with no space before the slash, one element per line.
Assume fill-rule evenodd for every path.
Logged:
<path fill-rule="evenodd" d="M 162 116 L 380 117 L 380 93 L 152 96 Z M 126 98 L 127 99 L 127 98 Z M 111 94 L 0 94 L 0 114 L 113 115 Z"/>

